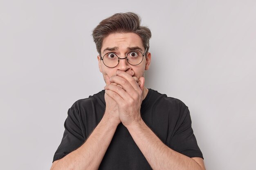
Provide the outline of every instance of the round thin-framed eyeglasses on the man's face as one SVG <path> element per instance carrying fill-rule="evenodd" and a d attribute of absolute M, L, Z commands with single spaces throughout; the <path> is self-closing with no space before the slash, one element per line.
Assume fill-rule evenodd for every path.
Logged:
<path fill-rule="evenodd" d="M 116 67 L 119 64 L 120 59 L 126 59 L 130 65 L 139 65 L 143 61 L 146 51 L 147 48 L 144 54 L 142 54 L 139 50 L 132 50 L 128 52 L 125 58 L 119 58 L 115 52 L 108 52 L 101 57 L 101 60 L 108 68 Z"/>

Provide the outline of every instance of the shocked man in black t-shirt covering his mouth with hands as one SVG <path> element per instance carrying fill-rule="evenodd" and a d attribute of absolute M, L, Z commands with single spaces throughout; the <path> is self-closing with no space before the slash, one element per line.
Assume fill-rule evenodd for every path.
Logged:
<path fill-rule="evenodd" d="M 93 31 L 105 90 L 68 110 L 52 169 L 204 170 L 188 107 L 144 86 L 151 32 L 135 13 Z"/>

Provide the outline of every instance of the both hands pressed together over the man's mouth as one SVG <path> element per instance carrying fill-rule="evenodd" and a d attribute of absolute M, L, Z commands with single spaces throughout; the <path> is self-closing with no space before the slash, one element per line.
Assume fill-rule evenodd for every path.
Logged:
<path fill-rule="evenodd" d="M 105 115 L 117 124 L 122 122 L 124 126 L 141 120 L 140 107 L 145 78 L 138 79 L 133 75 L 132 70 L 117 70 L 116 75 L 105 77 Z"/>

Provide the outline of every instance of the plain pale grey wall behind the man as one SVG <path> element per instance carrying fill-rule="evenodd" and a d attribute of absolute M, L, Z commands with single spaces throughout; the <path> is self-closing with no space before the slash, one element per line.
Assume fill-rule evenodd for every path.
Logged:
<path fill-rule="evenodd" d="M 146 87 L 189 107 L 206 168 L 255 168 L 255 0 L 0 0 L 1 169 L 50 168 L 67 110 L 104 87 L 92 30 L 128 11 L 152 31 Z"/>

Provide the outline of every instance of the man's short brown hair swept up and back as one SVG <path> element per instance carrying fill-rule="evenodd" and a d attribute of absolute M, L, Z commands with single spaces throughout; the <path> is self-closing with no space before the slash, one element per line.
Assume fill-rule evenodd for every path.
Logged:
<path fill-rule="evenodd" d="M 151 31 L 146 26 L 140 26 L 141 18 L 136 13 L 116 13 L 102 20 L 92 31 L 92 37 L 97 51 L 101 54 L 103 39 L 112 33 L 136 33 L 142 39 L 144 48 L 149 49 Z"/>

